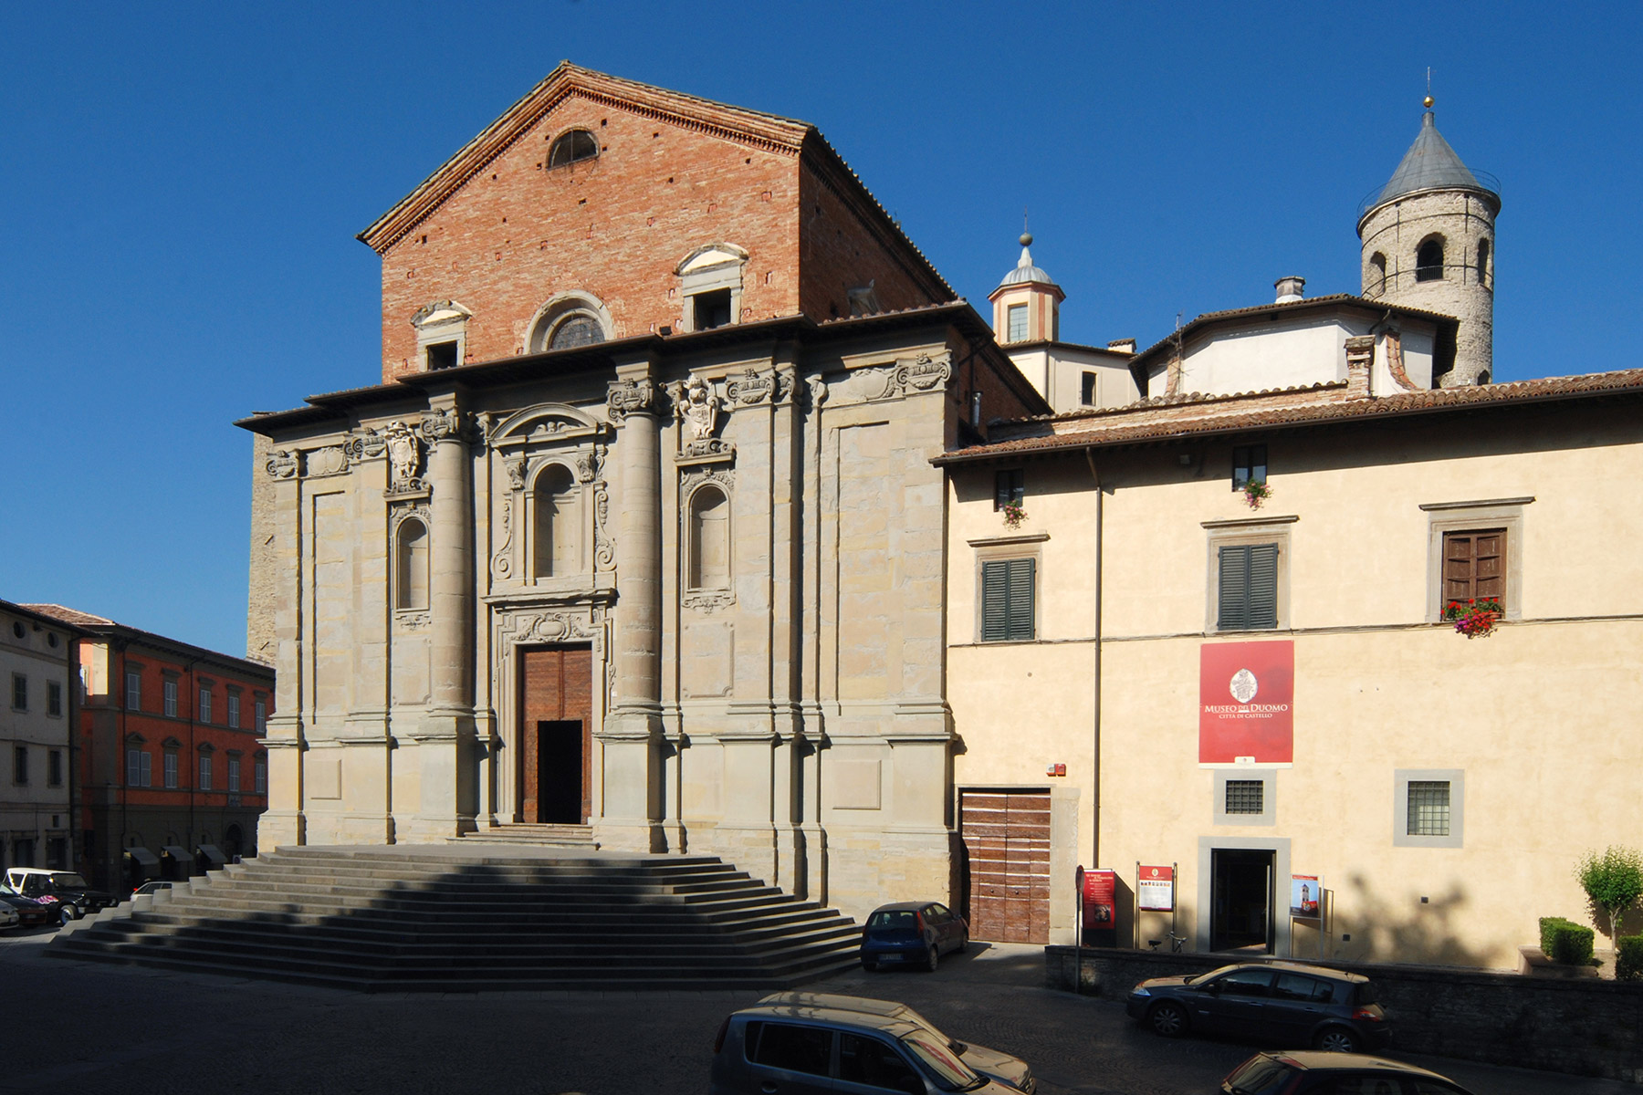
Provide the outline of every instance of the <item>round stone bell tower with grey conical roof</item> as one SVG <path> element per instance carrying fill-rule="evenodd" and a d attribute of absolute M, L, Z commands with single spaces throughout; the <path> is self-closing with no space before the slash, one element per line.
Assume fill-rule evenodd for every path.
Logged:
<path fill-rule="evenodd" d="M 1452 368 L 1438 381 L 1487 384 L 1493 371 L 1495 215 L 1500 184 L 1467 167 L 1438 131 L 1426 97 L 1421 131 L 1383 187 L 1359 207 L 1362 286 L 1387 300 L 1461 320 Z M 1438 346 L 1443 369 L 1444 346 Z"/>

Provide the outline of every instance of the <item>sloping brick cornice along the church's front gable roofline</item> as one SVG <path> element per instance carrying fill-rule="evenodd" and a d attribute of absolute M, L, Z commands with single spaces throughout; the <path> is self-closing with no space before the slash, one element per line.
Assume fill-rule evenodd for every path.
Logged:
<path fill-rule="evenodd" d="M 744 107 L 731 107 L 710 99 L 697 99 L 683 92 L 670 92 L 651 84 L 624 80 L 562 61 L 524 99 L 509 107 L 483 133 L 463 144 L 422 186 L 383 213 L 358 238 L 368 243 L 376 253 L 386 251 L 412 225 L 439 208 L 447 197 L 541 121 L 544 115 L 573 95 L 613 107 L 626 107 L 657 121 L 669 121 L 754 148 L 787 151 L 794 156 L 802 151 L 807 135 L 815 131 L 815 126 L 805 121 L 748 110 Z"/>

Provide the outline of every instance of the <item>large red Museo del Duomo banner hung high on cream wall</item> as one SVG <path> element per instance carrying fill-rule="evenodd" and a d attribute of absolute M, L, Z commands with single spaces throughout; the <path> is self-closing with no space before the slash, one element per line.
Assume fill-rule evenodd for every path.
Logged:
<path fill-rule="evenodd" d="M 1198 653 L 1198 763 L 1295 760 L 1295 642 L 1217 642 Z"/>

